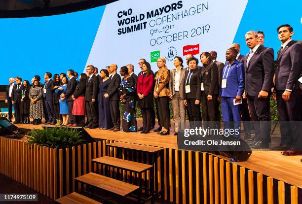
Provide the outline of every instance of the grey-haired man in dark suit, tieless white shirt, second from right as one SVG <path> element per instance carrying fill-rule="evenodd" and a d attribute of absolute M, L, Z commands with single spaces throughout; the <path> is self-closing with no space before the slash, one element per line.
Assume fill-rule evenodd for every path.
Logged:
<path fill-rule="evenodd" d="M 251 148 L 268 148 L 271 126 L 269 99 L 273 85 L 274 52 L 272 48 L 258 44 L 257 33 L 254 31 L 247 32 L 245 40 L 250 52 L 244 62 L 245 91 L 243 98 L 248 99 L 256 131 L 256 138 L 250 143 L 250 146 Z"/>

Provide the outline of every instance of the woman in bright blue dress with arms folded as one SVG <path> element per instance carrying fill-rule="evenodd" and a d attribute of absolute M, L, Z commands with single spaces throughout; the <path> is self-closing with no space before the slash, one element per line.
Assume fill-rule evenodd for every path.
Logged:
<path fill-rule="evenodd" d="M 56 90 L 57 95 L 60 96 L 61 94 L 63 94 L 63 92 L 67 89 L 67 83 L 68 83 L 67 77 L 63 76 L 62 77 L 62 85 L 60 85 L 59 88 L 57 88 L 57 90 Z M 68 124 L 68 119 L 69 119 L 68 105 L 67 105 L 66 98 L 60 96 L 59 103 L 60 103 L 60 114 L 63 117 L 62 125 L 66 126 Z"/>

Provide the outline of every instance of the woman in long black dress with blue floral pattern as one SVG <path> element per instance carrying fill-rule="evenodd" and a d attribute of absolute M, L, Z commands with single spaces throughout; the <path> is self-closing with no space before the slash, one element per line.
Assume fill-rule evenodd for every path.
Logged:
<path fill-rule="evenodd" d="M 121 67 L 119 73 L 123 76 L 118 89 L 119 98 L 123 103 L 123 131 L 137 132 L 136 114 L 134 109 L 136 95 L 135 80 L 129 75 L 126 66 Z"/>

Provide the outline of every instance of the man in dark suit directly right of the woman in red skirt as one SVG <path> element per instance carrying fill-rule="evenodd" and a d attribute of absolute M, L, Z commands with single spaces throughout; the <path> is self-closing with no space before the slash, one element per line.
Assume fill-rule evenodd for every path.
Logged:
<path fill-rule="evenodd" d="M 86 82 L 85 101 L 88 125 L 85 126 L 85 128 L 95 129 L 99 127 L 97 108 L 99 80 L 96 75 L 94 75 L 93 65 L 87 66 L 86 73 L 88 76 Z"/>

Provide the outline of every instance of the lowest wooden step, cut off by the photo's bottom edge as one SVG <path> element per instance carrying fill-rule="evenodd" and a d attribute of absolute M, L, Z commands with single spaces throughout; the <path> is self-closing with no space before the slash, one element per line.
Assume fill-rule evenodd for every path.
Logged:
<path fill-rule="evenodd" d="M 76 192 L 56 200 L 59 204 L 102 204 Z"/>

